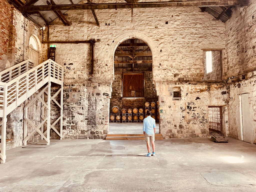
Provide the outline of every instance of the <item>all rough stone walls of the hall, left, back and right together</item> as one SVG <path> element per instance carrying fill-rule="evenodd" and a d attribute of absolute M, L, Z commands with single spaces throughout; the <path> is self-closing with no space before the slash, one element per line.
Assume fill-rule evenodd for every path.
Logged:
<path fill-rule="evenodd" d="M 37 37 L 39 63 L 46 60 L 47 45 L 40 43 L 40 29 L 5 0 L 0 0 L 0 6 L 1 70 L 28 58 L 31 35 Z M 249 6 L 232 11 L 226 23 L 198 7 L 133 9 L 133 17 L 131 9 L 97 10 L 100 27 L 91 10 L 66 12 L 71 26 L 55 19 L 49 37 L 44 31 L 44 40 L 97 40 L 94 75 L 90 73 L 89 44 L 56 44 L 56 62 L 65 67 L 63 137 L 106 136 L 110 98 L 114 96 L 114 79 L 118 79 L 114 76 L 114 51 L 122 41 L 138 38 L 152 51 L 152 87 L 160 101 L 160 131 L 165 138 L 206 137 L 208 106 L 222 106 L 223 133 L 241 139 L 242 93 L 249 93 L 251 126 L 256 127 L 256 2 L 250 0 Z M 221 50 L 220 76 L 225 81 L 204 80 L 205 50 Z M 173 98 L 177 89 L 181 93 L 178 100 Z M 40 106 L 40 102 L 32 106 L 30 116 L 40 116 Z M 8 117 L 13 141 L 7 148 L 22 144 L 23 108 L 21 105 Z M 53 119 L 58 116 L 58 112 L 52 114 Z M 56 138 L 54 133 L 51 136 Z M 251 143 L 256 143 L 255 131 L 253 137 Z M 31 141 L 36 139 L 38 135 Z"/>

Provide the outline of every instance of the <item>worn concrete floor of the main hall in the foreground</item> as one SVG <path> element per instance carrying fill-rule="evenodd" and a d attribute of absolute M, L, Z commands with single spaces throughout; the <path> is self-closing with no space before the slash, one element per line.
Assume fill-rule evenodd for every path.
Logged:
<path fill-rule="evenodd" d="M 256 191 L 256 145 L 208 138 L 156 141 L 53 140 L 7 151 L 0 191 Z"/>

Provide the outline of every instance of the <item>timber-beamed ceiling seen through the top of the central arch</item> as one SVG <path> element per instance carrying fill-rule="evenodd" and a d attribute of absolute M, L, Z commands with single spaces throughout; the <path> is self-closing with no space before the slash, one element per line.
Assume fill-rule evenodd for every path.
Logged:
<path fill-rule="evenodd" d="M 150 47 L 140 39 L 123 41 L 116 48 L 114 56 L 115 73 L 152 71 Z"/>

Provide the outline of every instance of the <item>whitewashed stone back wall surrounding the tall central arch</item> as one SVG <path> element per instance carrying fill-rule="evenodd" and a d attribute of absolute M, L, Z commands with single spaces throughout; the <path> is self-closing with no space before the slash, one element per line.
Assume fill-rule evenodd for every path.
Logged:
<path fill-rule="evenodd" d="M 90 10 L 68 11 L 66 18 L 71 26 L 64 26 L 59 19 L 50 25 L 49 40 L 98 39 L 94 49 L 93 76 L 90 75 L 90 45 L 56 44 L 56 62 L 65 67 L 64 137 L 105 137 L 114 79 L 114 51 L 120 42 L 132 37 L 144 40 L 152 50 L 153 82 L 157 95 L 166 103 L 162 106 L 161 132 L 165 137 L 205 137 L 208 134 L 208 104 L 226 105 L 226 94 L 221 95 L 226 90 L 225 86 L 218 84 L 207 90 L 207 84 L 198 85 L 196 82 L 204 77 L 203 49 L 224 49 L 226 46 L 224 24 L 198 7 L 133 9 L 133 17 L 131 9 L 96 10 L 96 13 L 100 27 L 95 24 Z M 225 58 L 225 50 L 223 55 Z M 178 81 L 183 82 L 180 101 L 183 108 L 189 102 L 197 107 L 198 114 L 186 114 L 186 120 L 182 120 L 180 108 L 177 113 L 170 111 L 179 101 L 173 101 L 172 95 L 162 95 L 161 91 Z M 192 81 L 195 84 L 190 88 L 191 84 L 185 82 Z M 201 88 L 196 90 L 198 86 Z M 213 87 L 217 89 L 216 93 Z M 201 93 L 200 89 L 204 91 Z M 79 95 L 79 101 L 67 102 L 73 94 Z M 192 95 L 193 99 L 190 98 Z M 202 99 L 195 100 L 197 97 Z M 171 123 L 174 120 L 177 122 Z M 192 121 L 195 124 L 187 125 Z M 174 125 L 183 128 L 178 132 Z M 169 131 L 172 129 L 173 134 Z"/>

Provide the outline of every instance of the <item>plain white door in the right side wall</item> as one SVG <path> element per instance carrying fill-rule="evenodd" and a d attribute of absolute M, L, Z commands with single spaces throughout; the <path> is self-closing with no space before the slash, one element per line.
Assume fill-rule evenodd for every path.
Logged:
<path fill-rule="evenodd" d="M 243 141 L 251 143 L 253 141 L 253 126 L 251 126 L 249 93 L 241 95 L 242 102 L 242 124 L 243 124 Z"/>

